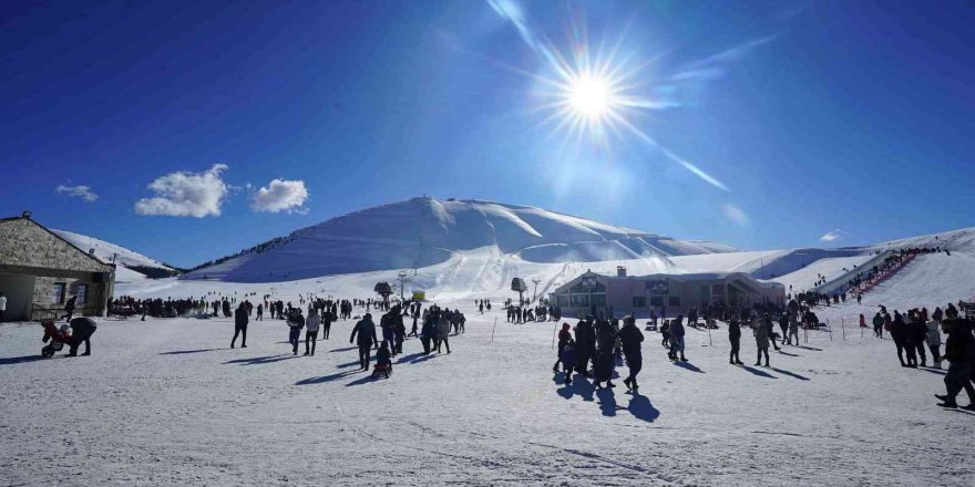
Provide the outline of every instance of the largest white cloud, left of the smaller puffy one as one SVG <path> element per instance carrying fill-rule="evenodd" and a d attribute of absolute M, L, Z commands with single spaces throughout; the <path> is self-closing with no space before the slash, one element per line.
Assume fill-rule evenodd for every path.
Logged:
<path fill-rule="evenodd" d="M 229 190 L 220 173 L 227 168 L 226 164 L 214 164 L 203 173 L 179 172 L 161 176 L 148 185 L 155 196 L 136 201 L 135 213 L 196 218 L 219 216 L 220 205 Z"/>

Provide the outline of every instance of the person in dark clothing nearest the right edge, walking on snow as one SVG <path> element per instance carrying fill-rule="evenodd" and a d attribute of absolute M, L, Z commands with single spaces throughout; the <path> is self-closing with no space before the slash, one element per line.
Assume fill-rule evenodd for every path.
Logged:
<path fill-rule="evenodd" d="M 975 336 L 972 336 L 972 324 L 965 320 L 948 319 L 942 321 L 942 330 L 947 333 L 943 360 L 951 364 L 944 376 L 946 395 L 935 394 L 942 402 L 938 406 L 955 408 L 955 397 L 964 388 L 968 394 L 965 410 L 975 411 L 975 387 L 972 386 L 972 366 L 975 364 Z"/>

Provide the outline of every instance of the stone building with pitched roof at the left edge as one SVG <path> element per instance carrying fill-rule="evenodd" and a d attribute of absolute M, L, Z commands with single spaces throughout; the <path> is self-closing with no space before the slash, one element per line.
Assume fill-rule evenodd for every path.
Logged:
<path fill-rule="evenodd" d="M 30 218 L 0 219 L 0 292 L 4 321 L 57 319 L 78 297 L 75 313 L 107 313 L 115 266 L 80 249 Z"/>

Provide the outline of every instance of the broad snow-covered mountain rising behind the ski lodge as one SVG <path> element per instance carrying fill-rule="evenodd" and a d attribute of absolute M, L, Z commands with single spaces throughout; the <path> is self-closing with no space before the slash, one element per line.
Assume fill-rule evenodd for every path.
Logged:
<path fill-rule="evenodd" d="M 304 228 L 184 276 L 271 282 L 418 269 L 474 249 L 525 262 L 601 262 L 735 251 L 541 208 L 429 197 L 378 206 Z"/>

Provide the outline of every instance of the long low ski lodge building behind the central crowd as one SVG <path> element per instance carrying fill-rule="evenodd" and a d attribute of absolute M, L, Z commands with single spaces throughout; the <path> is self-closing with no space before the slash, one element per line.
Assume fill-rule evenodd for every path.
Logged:
<path fill-rule="evenodd" d="M 748 305 L 756 302 L 782 303 L 786 287 L 763 282 L 743 272 L 708 272 L 684 274 L 627 276 L 618 267 L 616 276 L 587 271 L 550 293 L 552 303 L 562 308 L 563 315 L 574 317 L 591 309 L 612 309 L 616 317 L 633 313 L 648 315 L 666 308 L 667 315 L 687 314 L 690 308 L 701 309 L 710 303 Z"/>

